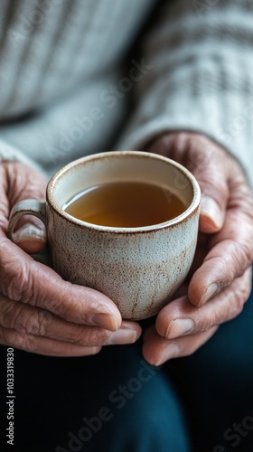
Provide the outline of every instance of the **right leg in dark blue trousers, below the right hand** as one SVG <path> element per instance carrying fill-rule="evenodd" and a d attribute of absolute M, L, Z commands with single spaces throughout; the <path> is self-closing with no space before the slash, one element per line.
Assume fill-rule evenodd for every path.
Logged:
<path fill-rule="evenodd" d="M 252 452 L 252 293 L 242 313 L 220 325 L 199 351 L 164 369 L 182 395 L 194 452 Z"/>

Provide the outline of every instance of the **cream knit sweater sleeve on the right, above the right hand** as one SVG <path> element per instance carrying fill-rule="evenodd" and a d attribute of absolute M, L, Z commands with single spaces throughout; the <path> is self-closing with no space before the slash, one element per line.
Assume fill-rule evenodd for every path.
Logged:
<path fill-rule="evenodd" d="M 168 131 L 200 132 L 235 155 L 253 184 L 252 2 L 164 2 L 142 55 L 136 108 L 117 148 L 145 149 Z"/>

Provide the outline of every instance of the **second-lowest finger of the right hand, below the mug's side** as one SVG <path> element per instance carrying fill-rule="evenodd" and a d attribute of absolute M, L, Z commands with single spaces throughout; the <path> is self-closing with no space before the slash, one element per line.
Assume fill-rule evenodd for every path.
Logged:
<path fill-rule="evenodd" d="M 251 289 L 251 271 L 233 281 L 230 287 L 212 298 L 204 306 L 192 306 L 187 297 L 169 303 L 156 318 L 157 333 L 166 339 L 199 334 L 223 324 L 239 315 L 248 300 Z"/>

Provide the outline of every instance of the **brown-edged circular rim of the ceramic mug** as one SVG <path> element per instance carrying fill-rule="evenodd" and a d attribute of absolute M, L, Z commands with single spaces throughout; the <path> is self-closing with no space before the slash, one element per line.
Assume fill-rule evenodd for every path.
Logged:
<path fill-rule="evenodd" d="M 77 165 L 83 165 L 86 163 L 89 163 L 90 161 L 95 161 L 100 158 L 107 158 L 113 155 L 118 156 L 124 156 L 124 155 L 133 155 L 133 156 L 140 156 L 145 158 L 155 158 L 160 161 L 164 161 L 167 164 L 173 165 L 175 168 L 177 168 L 179 171 L 181 171 L 187 179 L 192 184 L 192 202 L 187 207 L 187 209 L 181 213 L 181 215 L 178 215 L 177 217 L 174 217 L 172 220 L 164 221 L 163 223 L 157 223 L 152 224 L 149 226 L 139 226 L 136 228 L 118 228 L 113 226 L 102 226 L 98 224 L 89 223 L 87 221 L 79 220 L 78 218 L 75 218 L 71 216 L 69 213 L 65 212 L 61 206 L 56 202 L 53 194 L 53 189 L 59 179 L 66 173 L 68 173 L 73 167 Z M 173 228 L 174 226 L 178 225 L 181 222 L 186 221 L 189 217 L 191 217 L 196 210 L 199 208 L 200 202 L 201 202 L 201 188 L 198 184 L 197 180 L 193 176 L 193 174 L 185 168 L 183 165 L 179 164 L 178 162 L 174 161 L 171 158 L 165 157 L 164 155 L 158 155 L 154 153 L 149 153 L 145 151 L 136 151 L 136 150 L 122 150 L 122 151 L 105 151 L 100 152 L 97 154 L 92 155 L 86 155 L 84 157 L 80 157 L 77 160 L 73 160 L 69 164 L 63 166 L 56 174 L 52 176 L 52 179 L 47 184 L 46 189 L 46 201 L 50 204 L 53 211 L 57 212 L 61 217 L 63 217 L 65 220 L 70 221 L 70 223 L 74 223 L 77 226 L 80 226 L 81 228 L 88 228 L 89 230 L 93 231 L 104 231 L 104 232 L 113 232 L 113 233 L 139 233 L 139 232 L 150 232 L 150 231 L 157 231 L 162 230 L 165 228 Z"/>

